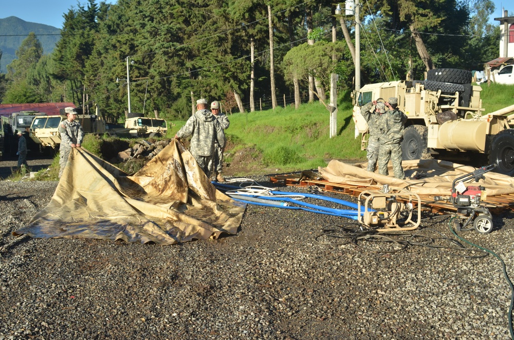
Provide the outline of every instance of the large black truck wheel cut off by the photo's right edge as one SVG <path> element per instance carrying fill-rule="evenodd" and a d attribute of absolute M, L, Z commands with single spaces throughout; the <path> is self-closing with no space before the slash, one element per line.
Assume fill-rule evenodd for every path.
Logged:
<path fill-rule="evenodd" d="M 500 131 L 489 149 L 489 163 L 496 164 L 497 173 L 514 176 L 514 129 Z"/>

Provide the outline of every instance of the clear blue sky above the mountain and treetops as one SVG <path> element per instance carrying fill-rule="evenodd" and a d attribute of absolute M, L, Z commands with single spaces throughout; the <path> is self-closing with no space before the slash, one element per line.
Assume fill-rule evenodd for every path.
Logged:
<path fill-rule="evenodd" d="M 112 4 L 116 3 L 116 0 L 106 2 Z M 505 6 L 509 13 L 514 12 L 512 1 L 493 0 L 493 2 L 496 9 L 490 17 L 492 23 L 498 24 L 493 18 L 502 16 L 502 6 Z M 85 4 L 86 1 L 81 0 L 80 3 Z M 72 6 L 77 7 L 77 0 L 3 0 L 0 5 L 0 18 L 17 16 L 28 22 L 61 28 L 64 22 L 63 14 Z"/>

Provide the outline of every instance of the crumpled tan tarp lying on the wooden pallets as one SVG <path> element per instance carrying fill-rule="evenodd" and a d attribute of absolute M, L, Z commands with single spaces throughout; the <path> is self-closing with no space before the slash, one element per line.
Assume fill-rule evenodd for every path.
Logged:
<path fill-rule="evenodd" d="M 473 172 L 476 168 L 457 163 L 438 160 L 403 161 L 405 180 L 384 176 L 366 171 L 367 163 L 355 165 L 332 160 L 327 167 L 320 167 L 319 173 L 323 179 L 334 183 L 374 186 L 389 184 L 390 187 L 405 188 L 418 195 L 449 196 L 452 181 L 460 176 Z M 389 168 L 389 173 L 393 171 Z M 510 176 L 493 172 L 484 174 L 485 179 L 468 185 L 482 185 L 486 188 L 487 196 L 514 193 L 514 179 Z"/>

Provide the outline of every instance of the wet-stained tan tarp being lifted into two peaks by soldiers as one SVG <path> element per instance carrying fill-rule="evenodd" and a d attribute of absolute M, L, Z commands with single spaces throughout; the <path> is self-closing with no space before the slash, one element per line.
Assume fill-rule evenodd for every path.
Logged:
<path fill-rule="evenodd" d="M 164 245 L 237 232 L 246 205 L 217 191 L 180 142 L 126 175 L 72 148 L 50 203 L 13 234 Z"/>

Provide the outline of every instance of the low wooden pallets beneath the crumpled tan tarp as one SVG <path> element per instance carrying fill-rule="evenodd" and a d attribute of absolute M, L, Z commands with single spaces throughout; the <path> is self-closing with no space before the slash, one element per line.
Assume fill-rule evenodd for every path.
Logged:
<path fill-rule="evenodd" d="M 365 190 L 380 190 L 381 185 L 352 185 L 345 183 L 333 183 L 326 180 L 308 179 L 305 176 L 299 175 L 277 175 L 269 178 L 272 183 L 281 183 L 290 186 L 314 186 L 319 187 L 321 191 L 328 191 L 331 193 L 346 194 L 358 197 L 361 192 Z M 433 213 L 448 213 L 456 212 L 456 208 L 449 202 L 438 201 L 434 202 L 433 196 L 419 195 L 421 204 L 424 210 L 429 210 Z M 400 199 L 401 200 L 401 199 Z M 491 213 L 500 213 L 505 211 L 514 210 L 514 194 L 487 196 L 487 199 L 482 201 L 482 205 L 487 207 Z"/>

